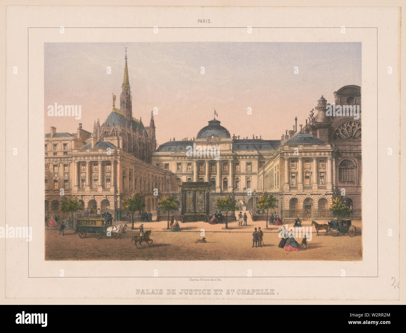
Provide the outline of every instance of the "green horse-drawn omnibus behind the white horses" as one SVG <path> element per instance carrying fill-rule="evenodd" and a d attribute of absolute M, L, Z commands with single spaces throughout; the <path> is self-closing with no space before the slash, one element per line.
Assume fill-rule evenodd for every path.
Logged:
<path fill-rule="evenodd" d="M 112 226 L 111 214 L 76 214 L 76 232 L 80 238 L 86 238 L 88 233 L 95 233 L 97 239 L 106 234 Z"/>

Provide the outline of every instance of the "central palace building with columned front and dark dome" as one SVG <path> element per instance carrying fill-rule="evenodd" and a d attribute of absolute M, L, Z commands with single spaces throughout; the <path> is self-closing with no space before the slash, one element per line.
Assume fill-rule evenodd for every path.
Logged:
<path fill-rule="evenodd" d="M 208 182 L 211 190 L 258 191 L 258 170 L 268 161 L 281 140 L 252 139 L 233 135 L 216 119 L 209 120 L 192 140 L 172 138 L 153 153 L 157 168 L 173 172 L 177 185 Z"/>

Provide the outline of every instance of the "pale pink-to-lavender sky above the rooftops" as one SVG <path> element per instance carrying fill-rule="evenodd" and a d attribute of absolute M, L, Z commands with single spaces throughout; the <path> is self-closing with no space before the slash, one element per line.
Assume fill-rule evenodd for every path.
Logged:
<path fill-rule="evenodd" d="M 196 136 L 214 108 L 231 135 L 278 140 L 295 116 L 305 124 L 322 95 L 333 103 L 342 86 L 361 86 L 361 43 L 45 43 L 45 133 L 74 133 L 80 122 L 93 131 L 112 93 L 119 107 L 124 47 L 133 116 L 148 126 L 158 107 L 158 144 Z M 82 119 L 49 117 L 54 103 L 82 105 Z"/>

